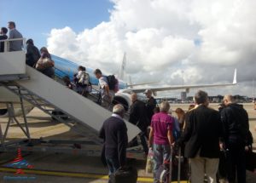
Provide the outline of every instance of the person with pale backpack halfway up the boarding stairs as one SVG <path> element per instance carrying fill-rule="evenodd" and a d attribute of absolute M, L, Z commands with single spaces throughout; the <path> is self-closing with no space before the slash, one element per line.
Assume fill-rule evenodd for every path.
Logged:
<path fill-rule="evenodd" d="M 87 87 L 89 87 L 90 83 L 89 74 L 86 73 L 86 68 L 84 66 L 79 66 L 78 71 L 79 72 L 75 75 L 75 83 L 78 88 L 78 92 L 79 94 L 87 97 Z"/>

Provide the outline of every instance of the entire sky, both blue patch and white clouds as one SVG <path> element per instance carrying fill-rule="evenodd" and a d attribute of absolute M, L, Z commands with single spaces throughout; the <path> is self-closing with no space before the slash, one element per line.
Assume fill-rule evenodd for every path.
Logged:
<path fill-rule="evenodd" d="M 0 25 L 14 20 L 38 47 L 108 73 L 126 53 L 133 83 L 230 83 L 237 68 L 238 85 L 208 94 L 253 96 L 255 8 L 254 0 L 1 0 Z"/>

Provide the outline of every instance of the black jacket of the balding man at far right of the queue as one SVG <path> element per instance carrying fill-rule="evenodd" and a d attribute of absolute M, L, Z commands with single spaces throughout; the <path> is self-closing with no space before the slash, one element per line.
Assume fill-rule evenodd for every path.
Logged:
<path fill-rule="evenodd" d="M 233 103 L 221 111 L 221 120 L 224 124 L 224 142 L 226 145 L 231 140 L 242 146 L 247 144 L 249 133 L 249 120 L 243 106 Z"/>

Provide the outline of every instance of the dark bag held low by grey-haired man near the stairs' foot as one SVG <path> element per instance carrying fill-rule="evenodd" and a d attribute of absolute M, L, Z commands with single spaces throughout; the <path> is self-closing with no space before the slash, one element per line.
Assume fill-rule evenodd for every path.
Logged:
<path fill-rule="evenodd" d="M 137 183 L 137 169 L 131 166 L 119 168 L 110 175 L 110 183 Z"/>

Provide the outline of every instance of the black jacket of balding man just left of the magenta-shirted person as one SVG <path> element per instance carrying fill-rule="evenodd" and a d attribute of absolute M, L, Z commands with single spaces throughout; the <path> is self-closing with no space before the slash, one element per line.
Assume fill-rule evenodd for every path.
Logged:
<path fill-rule="evenodd" d="M 150 125 L 148 119 L 147 108 L 143 101 L 136 100 L 131 105 L 129 122 L 137 125 L 144 133 L 147 132 L 147 128 Z"/>

